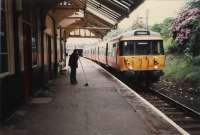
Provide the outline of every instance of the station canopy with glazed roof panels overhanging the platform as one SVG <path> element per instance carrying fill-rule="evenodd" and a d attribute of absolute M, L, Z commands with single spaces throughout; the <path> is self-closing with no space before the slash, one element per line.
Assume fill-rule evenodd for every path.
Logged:
<path fill-rule="evenodd" d="M 102 38 L 144 0 L 35 0 L 68 37 Z"/>

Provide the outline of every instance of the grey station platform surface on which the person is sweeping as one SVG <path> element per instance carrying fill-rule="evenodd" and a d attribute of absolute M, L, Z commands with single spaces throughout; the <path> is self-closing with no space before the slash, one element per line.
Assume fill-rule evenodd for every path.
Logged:
<path fill-rule="evenodd" d="M 81 58 L 77 85 L 61 75 L 20 108 L 0 135 L 179 135 L 158 112 L 99 65 Z M 183 133 L 183 132 L 182 132 Z"/>

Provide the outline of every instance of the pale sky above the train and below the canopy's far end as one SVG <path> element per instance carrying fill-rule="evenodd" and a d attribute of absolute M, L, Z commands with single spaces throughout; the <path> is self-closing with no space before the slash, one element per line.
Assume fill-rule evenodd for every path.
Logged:
<path fill-rule="evenodd" d="M 124 19 L 119 23 L 119 28 L 127 28 L 132 25 L 137 17 L 146 17 L 146 12 L 149 10 L 149 25 L 161 23 L 167 17 L 177 16 L 178 11 L 185 5 L 186 0 L 146 0 L 136 10 L 134 10 L 129 18 Z M 144 21 L 145 22 L 145 21 Z M 69 38 L 68 44 L 92 44 L 99 40 L 96 39 L 77 39 Z"/>

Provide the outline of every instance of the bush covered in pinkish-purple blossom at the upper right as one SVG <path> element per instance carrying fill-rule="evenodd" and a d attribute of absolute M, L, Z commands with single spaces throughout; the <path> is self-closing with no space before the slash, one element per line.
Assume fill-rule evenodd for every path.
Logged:
<path fill-rule="evenodd" d="M 192 57 L 200 55 L 200 0 L 191 1 L 174 19 L 172 36 L 182 52 Z"/>

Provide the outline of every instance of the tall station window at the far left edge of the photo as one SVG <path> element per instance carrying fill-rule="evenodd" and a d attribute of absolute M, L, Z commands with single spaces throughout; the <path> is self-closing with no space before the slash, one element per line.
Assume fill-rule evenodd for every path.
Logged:
<path fill-rule="evenodd" d="M 8 45 L 6 36 L 6 8 L 5 0 L 1 0 L 1 44 L 0 44 L 0 73 L 8 72 Z"/>

